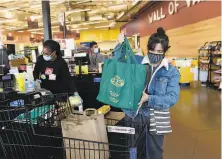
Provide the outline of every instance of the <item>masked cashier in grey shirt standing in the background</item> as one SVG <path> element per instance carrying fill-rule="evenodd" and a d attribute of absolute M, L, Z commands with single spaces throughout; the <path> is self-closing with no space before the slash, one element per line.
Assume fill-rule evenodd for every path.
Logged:
<path fill-rule="evenodd" d="M 102 63 L 104 61 L 104 56 L 100 54 L 98 45 L 94 41 L 90 44 L 89 59 L 90 59 L 89 71 L 98 72 L 99 63 Z"/>

